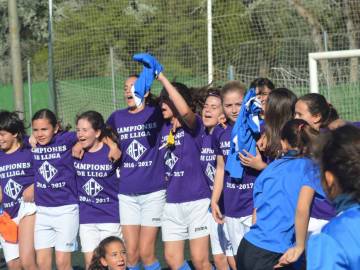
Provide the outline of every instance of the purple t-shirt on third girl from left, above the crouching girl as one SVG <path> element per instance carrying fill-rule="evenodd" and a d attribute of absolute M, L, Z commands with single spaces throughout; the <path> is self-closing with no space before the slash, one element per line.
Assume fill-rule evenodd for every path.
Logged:
<path fill-rule="evenodd" d="M 74 160 L 80 224 L 119 223 L 119 171 L 108 158 L 109 147 L 85 152 Z"/>

